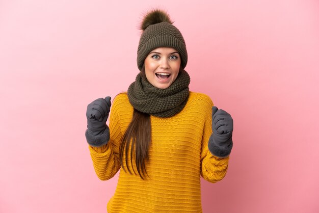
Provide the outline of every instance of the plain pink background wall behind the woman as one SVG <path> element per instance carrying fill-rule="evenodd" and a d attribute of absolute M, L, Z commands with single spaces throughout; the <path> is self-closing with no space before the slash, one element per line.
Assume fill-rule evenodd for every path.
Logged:
<path fill-rule="evenodd" d="M 139 72 L 143 12 L 187 43 L 190 89 L 234 119 L 226 177 L 204 212 L 319 212 L 318 1 L 0 1 L 0 212 L 106 212 L 86 107 Z"/>

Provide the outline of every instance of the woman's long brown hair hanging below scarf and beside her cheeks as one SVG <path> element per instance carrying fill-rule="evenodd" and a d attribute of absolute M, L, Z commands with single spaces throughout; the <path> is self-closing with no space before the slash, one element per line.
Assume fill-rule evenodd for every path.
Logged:
<path fill-rule="evenodd" d="M 181 72 L 183 69 L 180 66 L 179 72 Z M 141 70 L 142 77 L 146 79 L 145 74 L 145 67 L 143 65 Z M 143 176 L 145 175 L 146 168 L 145 168 L 145 161 L 149 162 L 149 155 L 148 155 L 148 149 L 151 143 L 151 118 L 150 115 L 147 113 L 142 113 L 136 109 L 133 111 L 133 117 L 131 122 L 129 123 L 124 136 L 121 139 L 120 143 L 120 164 L 122 168 L 125 170 L 125 167 L 123 165 L 123 153 L 125 148 L 125 163 L 126 167 L 128 169 L 128 172 L 130 174 L 131 171 L 129 167 L 127 166 L 127 154 L 129 151 L 129 147 L 131 147 L 130 150 L 130 162 L 131 167 L 133 168 L 134 173 L 136 174 L 133 164 L 132 164 L 132 157 L 133 157 L 133 151 L 135 148 L 135 161 L 136 161 L 136 167 L 138 170 L 138 173 L 140 177 L 144 180 Z M 142 174 L 143 176 L 142 176 Z M 148 176 L 148 175 L 147 175 Z"/>

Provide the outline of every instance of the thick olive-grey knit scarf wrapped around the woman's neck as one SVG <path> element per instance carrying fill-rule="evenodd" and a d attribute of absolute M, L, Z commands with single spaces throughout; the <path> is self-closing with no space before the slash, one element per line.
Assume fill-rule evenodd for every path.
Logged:
<path fill-rule="evenodd" d="M 179 113 L 189 96 L 190 75 L 182 70 L 173 84 L 166 89 L 151 85 L 140 72 L 127 90 L 130 104 L 138 111 L 156 117 L 168 118 Z"/>

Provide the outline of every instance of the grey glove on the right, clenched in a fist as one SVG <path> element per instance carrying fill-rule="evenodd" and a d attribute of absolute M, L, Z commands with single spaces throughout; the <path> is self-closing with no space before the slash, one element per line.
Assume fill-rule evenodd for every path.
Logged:
<path fill-rule="evenodd" d="M 232 149 L 233 120 L 224 110 L 212 107 L 212 134 L 208 140 L 209 151 L 218 157 L 227 157 Z"/>

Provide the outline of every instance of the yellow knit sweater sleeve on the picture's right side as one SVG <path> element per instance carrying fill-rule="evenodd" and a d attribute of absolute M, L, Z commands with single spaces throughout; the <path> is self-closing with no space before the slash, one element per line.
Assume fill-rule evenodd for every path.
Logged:
<path fill-rule="evenodd" d="M 210 135 L 212 134 L 211 130 L 211 108 L 214 106 L 211 99 L 207 96 L 207 100 L 205 101 L 207 104 L 206 115 L 205 115 L 205 123 L 202 137 L 202 147 L 201 147 L 201 176 L 212 183 L 222 180 L 228 169 L 228 161 L 229 156 L 227 157 L 217 157 L 208 149 L 208 140 Z"/>

